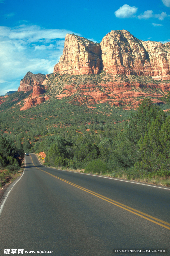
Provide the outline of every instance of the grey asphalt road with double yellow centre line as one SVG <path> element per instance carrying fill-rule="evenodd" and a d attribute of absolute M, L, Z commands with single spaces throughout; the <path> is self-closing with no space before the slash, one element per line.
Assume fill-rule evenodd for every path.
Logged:
<path fill-rule="evenodd" d="M 170 189 L 48 168 L 34 154 L 25 161 L 1 212 L 0 255 L 170 255 Z"/>

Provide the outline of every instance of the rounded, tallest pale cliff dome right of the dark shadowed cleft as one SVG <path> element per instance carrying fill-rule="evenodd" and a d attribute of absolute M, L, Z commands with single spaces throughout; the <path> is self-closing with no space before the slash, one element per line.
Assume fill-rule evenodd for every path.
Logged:
<path fill-rule="evenodd" d="M 146 67 L 151 69 L 149 55 L 142 41 L 127 30 L 112 30 L 102 39 L 100 45 L 103 70 L 106 73 L 147 75 Z"/>

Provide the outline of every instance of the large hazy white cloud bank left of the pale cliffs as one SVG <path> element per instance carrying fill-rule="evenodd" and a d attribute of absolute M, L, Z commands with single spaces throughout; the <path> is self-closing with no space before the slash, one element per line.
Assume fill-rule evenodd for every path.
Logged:
<path fill-rule="evenodd" d="M 28 71 L 44 74 L 53 72 L 53 66 L 62 54 L 67 33 L 74 32 L 35 25 L 14 28 L 0 26 L 1 89 L 10 82 L 13 83 L 12 88 L 19 87 L 20 79 Z M 14 81 L 17 81 L 17 86 Z"/>

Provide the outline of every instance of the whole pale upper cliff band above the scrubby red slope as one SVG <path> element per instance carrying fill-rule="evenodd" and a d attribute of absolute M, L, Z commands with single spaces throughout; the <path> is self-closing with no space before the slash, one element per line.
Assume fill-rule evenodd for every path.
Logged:
<path fill-rule="evenodd" d="M 54 72 L 60 74 L 107 74 L 169 76 L 170 43 L 141 41 L 127 30 L 112 30 L 95 44 L 67 34 L 63 55 Z"/>

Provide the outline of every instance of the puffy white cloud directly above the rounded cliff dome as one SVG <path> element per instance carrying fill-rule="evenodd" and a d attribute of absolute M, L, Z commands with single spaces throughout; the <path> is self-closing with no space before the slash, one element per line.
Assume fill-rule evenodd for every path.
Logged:
<path fill-rule="evenodd" d="M 135 17 L 134 14 L 137 12 L 138 8 L 135 6 L 130 6 L 124 4 L 118 10 L 114 12 L 117 18 L 132 18 Z"/>

